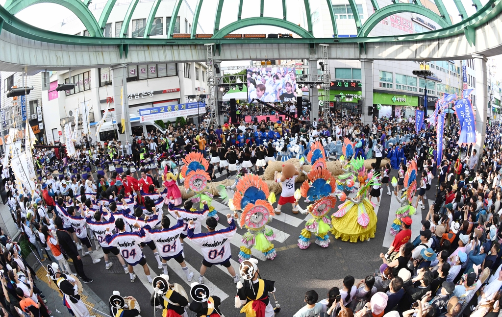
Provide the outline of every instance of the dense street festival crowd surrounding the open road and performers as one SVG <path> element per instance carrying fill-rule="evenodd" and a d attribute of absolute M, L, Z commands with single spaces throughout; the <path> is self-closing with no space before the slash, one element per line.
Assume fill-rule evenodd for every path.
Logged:
<path fill-rule="evenodd" d="M 324 148 L 320 157 L 328 162 L 348 161 L 348 156 L 353 157 L 354 162 L 360 158 L 376 159 L 370 171 L 377 180 L 371 183 L 369 192 L 370 200 L 378 200 L 371 202 L 373 206 L 379 204 L 381 194 L 401 202 L 401 194 L 410 193 L 406 183 L 411 183 L 413 172 L 416 176 L 413 186 L 416 186 L 418 197 L 414 199 L 413 192 L 411 201 L 402 203 L 402 206 L 421 212 L 425 208 L 424 198 L 429 196 L 434 203 L 429 207 L 419 232 L 411 232 L 409 216 L 397 215 L 394 232 L 391 232 L 395 238 L 389 250 L 380 255 L 382 266 L 378 274 L 357 281 L 348 275 L 343 279 L 342 287 L 332 287 L 327 294 L 306 290 L 305 298 L 298 298 L 295 317 L 480 317 L 499 314 L 502 295 L 500 122 L 490 122 L 486 131 L 480 131 L 486 133 L 486 138 L 479 155 L 472 144 L 457 144 L 462 137 L 459 131 L 464 118 L 457 118 L 455 114 L 447 118 L 448 128 L 438 143 L 437 122 L 426 120 L 417 132 L 417 125 L 421 122 L 417 124 L 414 116 L 375 116 L 371 124 L 363 124 L 359 114 L 336 110 L 330 113 L 329 122 L 323 122 L 321 115 L 319 120 L 299 124 L 287 117 L 281 121 L 274 116 L 275 113 L 269 112 L 267 114 L 272 118 L 267 122 L 244 122 L 245 114 L 255 114 L 247 107 L 239 107 L 239 122 L 215 126 L 205 117 L 198 126 L 193 123 L 184 126 L 170 124 L 166 133 L 152 130 L 133 135 L 131 142 L 112 139 L 92 143 L 83 136 L 75 140 L 76 154 L 72 157 L 58 153 L 52 147 L 37 147 L 33 150 L 37 174 L 33 193 L 20 191 L 13 170 L 3 169 L 2 178 L 12 218 L 33 244 L 35 255 L 44 265 L 52 262 L 47 265 L 49 275 L 74 315 L 89 315 L 80 300 L 78 285 L 80 282 L 90 283 L 92 279 L 86 276 L 85 271 L 90 268 L 84 267 L 81 257 L 89 255 L 92 263 L 97 264 L 101 259 L 94 257 L 93 251 L 102 248 L 105 268 L 112 265 L 110 256 L 118 257 L 131 282 L 136 279 L 133 267 L 142 266 L 155 289 L 151 304 L 164 309 L 163 316 L 187 316 L 188 310 L 195 311 L 197 316 L 230 315 L 231 312 L 219 310 L 220 299 L 211 296 L 210 289 L 204 285 L 204 272 L 215 264 L 226 267 L 240 287 L 235 304 L 244 305 L 241 312 L 246 316 L 273 316 L 277 308 L 272 306 L 269 295 L 276 287 L 281 287 L 280 283 L 261 279 L 258 261 L 245 252 L 239 253 L 241 264 L 236 272 L 229 262 L 232 256 L 229 247 L 215 251 L 204 245 L 206 241 L 216 239 L 215 234 L 228 238 L 235 233 L 236 225 L 242 227 L 237 212 L 227 215 L 228 227 L 215 231 L 218 217 L 214 208 L 208 206 L 211 196 L 194 188 L 198 182 L 206 180 L 210 183 L 215 178 L 232 175 L 253 182 L 253 177 L 262 175 L 274 161 L 285 162 L 286 166 L 290 158 L 298 158 L 304 166 L 308 165 L 313 162 L 309 152 L 319 154 L 315 152 L 319 145 Z M 304 108 L 303 115 L 306 112 L 308 114 L 308 109 Z M 442 115 L 439 110 L 433 116 Z M 423 113 L 421 117 L 423 119 Z M 439 120 L 445 124 L 444 116 Z M 352 152 L 349 144 L 353 146 Z M 442 147 L 439 158 L 438 144 Z M 207 160 L 201 160 L 201 157 Z M 383 158 L 389 158 L 390 163 Z M 193 164 L 202 166 L 207 179 L 203 177 L 201 181 L 193 176 L 200 171 Z M 397 171 L 399 181 L 395 182 L 393 178 L 391 182 L 392 170 Z M 302 169 L 297 172 L 306 174 Z M 194 181 L 189 182 L 188 187 L 198 195 L 198 200 L 183 202 L 178 185 L 186 186 L 186 179 L 191 181 L 192 176 Z M 294 182 L 294 177 L 283 184 L 287 185 L 288 180 Z M 336 178 L 330 177 L 331 174 L 327 179 L 334 182 Z M 235 181 L 237 190 L 241 186 L 239 178 Z M 431 186 L 435 184 L 433 179 L 437 179 L 438 188 Z M 313 183 L 310 186 L 316 189 Z M 342 184 L 345 196 L 356 187 L 350 182 Z M 263 199 L 266 199 L 268 190 L 261 190 L 266 194 Z M 302 197 L 305 200 L 296 193 L 293 197 L 291 193 L 284 195 L 286 191 L 290 191 L 290 187 L 283 187 L 274 208 L 276 214 L 286 203 L 292 203 L 293 213 L 298 213 L 298 210 L 304 211 L 300 205 L 306 206 L 309 201 L 317 199 L 310 199 L 310 194 L 304 195 L 303 185 Z M 318 195 L 320 193 L 322 191 L 317 191 Z M 238 191 L 235 192 L 235 206 L 231 209 L 245 213 L 247 209 L 239 208 L 244 197 L 238 198 L 242 200 L 238 204 L 238 195 Z M 340 198 L 344 194 L 338 192 L 336 196 Z M 246 197 L 249 203 L 252 198 Z M 264 200 L 252 201 L 257 205 L 259 202 L 268 204 Z M 272 215 L 274 211 L 271 211 Z M 176 223 L 170 221 L 168 214 L 177 219 Z M 202 222 L 206 224 L 207 232 L 201 230 Z M 252 222 L 245 224 L 248 229 L 253 226 Z M 13 242 L 3 231 L 1 234 L 2 315 L 51 315 L 50 307 L 44 304 L 44 295 L 36 286 L 38 277 L 35 271 L 21 255 L 20 244 Z M 307 233 L 302 231 L 300 248 L 310 245 L 309 241 L 302 247 L 302 237 L 305 236 Z M 200 272 L 190 272 L 185 263 L 183 239 L 187 238 L 207 251 L 203 252 L 208 255 L 204 256 Z M 256 240 L 253 243 L 258 248 L 260 239 Z M 322 240 L 320 237 L 316 243 L 322 245 Z M 169 244 L 163 246 L 159 241 L 169 241 Z M 153 251 L 158 269 L 164 273 L 154 280 L 143 253 L 147 245 Z M 151 256 L 150 252 L 146 253 Z M 264 254 L 273 259 L 275 251 L 269 248 Z M 166 260 L 171 258 L 181 265 L 189 282 L 194 278 L 197 281 L 190 291 L 191 303 L 186 292 L 169 283 Z M 72 260 L 72 265 L 68 259 Z M 121 297 L 114 292 L 110 297 L 110 313 L 112 316 L 134 316 L 139 315 L 140 307 L 134 297 Z"/>

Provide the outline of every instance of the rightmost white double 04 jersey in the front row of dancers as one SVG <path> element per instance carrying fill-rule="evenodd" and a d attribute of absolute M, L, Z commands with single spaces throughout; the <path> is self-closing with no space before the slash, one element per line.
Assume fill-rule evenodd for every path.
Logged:
<path fill-rule="evenodd" d="M 225 229 L 197 234 L 193 232 L 193 229 L 188 229 L 188 238 L 200 246 L 202 255 L 207 262 L 221 263 L 232 256 L 230 238 L 233 237 L 237 228 L 233 218 L 230 218 L 229 224 L 230 226 Z"/>

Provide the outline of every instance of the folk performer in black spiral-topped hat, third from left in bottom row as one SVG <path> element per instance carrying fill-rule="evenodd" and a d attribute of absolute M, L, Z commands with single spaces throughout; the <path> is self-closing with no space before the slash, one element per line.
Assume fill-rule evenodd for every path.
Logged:
<path fill-rule="evenodd" d="M 221 299 L 218 296 L 211 296 L 209 287 L 204 284 L 192 283 L 190 296 L 193 301 L 190 303 L 190 310 L 196 313 L 197 317 L 220 317 L 221 311 L 218 306 Z"/>

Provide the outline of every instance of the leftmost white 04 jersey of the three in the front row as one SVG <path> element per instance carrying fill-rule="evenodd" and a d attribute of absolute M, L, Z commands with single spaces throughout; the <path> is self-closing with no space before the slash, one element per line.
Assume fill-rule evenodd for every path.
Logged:
<path fill-rule="evenodd" d="M 147 239 L 145 231 L 141 229 L 138 232 L 119 232 L 106 237 L 106 242 L 112 247 L 117 247 L 120 254 L 129 264 L 138 263 L 143 257 L 140 243 Z"/>

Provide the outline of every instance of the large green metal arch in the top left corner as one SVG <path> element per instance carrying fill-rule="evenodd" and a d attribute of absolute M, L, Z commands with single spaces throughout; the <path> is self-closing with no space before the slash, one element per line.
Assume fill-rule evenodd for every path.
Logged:
<path fill-rule="evenodd" d="M 89 8 L 84 5 L 81 0 L 17 0 L 9 4 L 5 9 L 9 11 L 10 14 L 15 15 L 21 10 L 28 8 L 36 4 L 51 3 L 65 7 L 74 13 L 77 18 L 82 21 L 87 31 L 89 31 L 89 36 L 102 38 L 103 31 L 99 27 L 96 19 L 90 12 Z"/>

